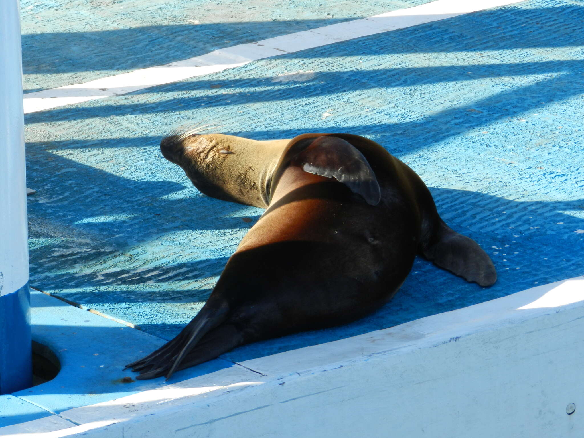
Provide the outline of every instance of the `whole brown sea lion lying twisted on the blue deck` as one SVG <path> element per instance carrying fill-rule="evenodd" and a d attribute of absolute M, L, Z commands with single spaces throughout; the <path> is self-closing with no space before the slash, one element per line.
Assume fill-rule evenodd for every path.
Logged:
<path fill-rule="evenodd" d="M 422 179 L 367 138 L 187 131 L 164 138 L 161 151 L 208 196 L 267 210 L 199 314 L 127 366 L 138 379 L 168 379 L 238 345 L 363 317 L 394 296 L 416 254 L 481 286 L 496 281 L 489 256 L 440 219 Z"/>

